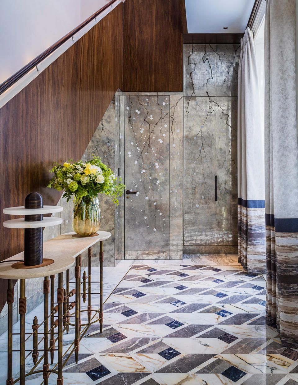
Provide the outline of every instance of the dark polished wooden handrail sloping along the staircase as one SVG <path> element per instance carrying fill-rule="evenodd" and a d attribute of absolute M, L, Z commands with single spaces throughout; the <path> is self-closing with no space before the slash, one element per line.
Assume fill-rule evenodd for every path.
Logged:
<path fill-rule="evenodd" d="M 10 76 L 7 80 L 5 80 L 2 84 L 0 84 L 0 95 L 7 90 L 9 87 L 11 87 L 15 82 L 17 82 L 22 76 L 27 74 L 30 70 L 32 70 L 38 63 L 42 62 L 46 57 L 48 57 L 52 52 L 54 52 L 60 45 L 65 43 L 68 39 L 70 39 L 75 33 L 80 31 L 82 28 L 84 28 L 91 20 L 93 20 L 95 17 L 97 17 L 100 13 L 102 13 L 105 9 L 110 7 L 113 3 L 115 3 L 117 0 L 111 0 L 107 4 L 105 4 L 102 8 L 100 8 L 97 12 L 93 13 L 88 19 L 86 19 L 84 22 L 82 22 L 78 27 L 74 28 L 72 31 L 67 33 L 67 35 L 63 36 L 60 40 L 58 40 L 56 43 L 51 45 L 48 49 L 42 52 L 42 54 L 38 55 L 35 59 L 31 60 L 27 65 L 25 65 L 22 69 L 20 69 L 18 72 Z"/>

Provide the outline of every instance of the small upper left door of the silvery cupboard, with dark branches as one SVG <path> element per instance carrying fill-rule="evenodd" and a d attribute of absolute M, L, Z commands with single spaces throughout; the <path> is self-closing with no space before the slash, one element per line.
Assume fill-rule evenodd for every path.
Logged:
<path fill-rule="evenodd" d="M 184 95 L 216 95 L 216 45 L 184 44 Z"/>

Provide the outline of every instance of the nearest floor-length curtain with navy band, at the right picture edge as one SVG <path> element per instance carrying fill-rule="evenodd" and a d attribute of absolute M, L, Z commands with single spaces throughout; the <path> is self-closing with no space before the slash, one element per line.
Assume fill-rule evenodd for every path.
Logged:
<path fill-rule="evenodd" d="M 267 0 L 265 201 L 267 318 L 298 348 L 298 144 L 296 1 Z"/>

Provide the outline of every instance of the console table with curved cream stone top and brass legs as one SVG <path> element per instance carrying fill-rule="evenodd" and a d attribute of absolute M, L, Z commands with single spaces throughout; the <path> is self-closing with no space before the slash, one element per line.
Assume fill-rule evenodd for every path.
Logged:
<path fill-rule="evenodd" d="M 81 326 L 87 326 L 87 328 L 97 321 L 100 323 L 100 332 L 102 332 L 103 324 L 103 310 L 102 310 L 102 293 L 103 293 L 103 241 L 110 238 L 111 233 L 107 231 L 98 231 L 95 236 L 74 238 L 75 233 L 66 233 L 59 235 L 53 239 L 50 239 L 43 243 L 43 256 L 44 258 L 50 258 L 53 260 L 52 264 L 48 266 L 42 266 L 37 268 L 13 268 L 15 260 L 23 260 L 24 253 L 16 254 L 10 258 L 5 259 L 5 263 L 0 264 L 0 278 L 8 280 L 7 290 L 7 304 L 8 304 L 8 341 L 7 341 L 7 385 L 13 385 L 16 382 L 20 382 L 20 385 L 25 384 L 25 378 L 33 373 L 43 373 L 43 380 L 45 385 L 48 384 L 48 377 L 50 373 L 57 374 L 57 385 L 63 385 L 63 352 L 62 341 L 63 332 L 68 333 L 69 326 L 75 326 L 75 339 L 73 342 L 73 349 L 69 353 L 75 352 L 75 361 L 78 361 L 78 352 L 80 349 L 80 337 Z M 91 306 L 91 259 L 92 259 L 92 245 L 100 242 L 100 308 L 99 310 L 92 309 Z M 81 278 L 81 253 L 87 250 L 88 259 L 88 275 L 84 271 Z M 69 290 L 70 284 L 70 267 L 75 264 L 75 289 Z M 63 271 L 66 271 L 66 287 L 63 288 Z M 57 289 L 57 301 L 55 302 L 55 275 L 58 274 L 58 289 Z M 43 281 L 43 295 L 44 295 L 44 320 L 38 324 L 37 317 L 34 318 L 32 324 L 32 333 L 29 333 L 26 338 L 25 331 L 25 315 L 26 315 L 26 279 L 28 278 L 40 278 L 44 277 Z M 82 279 L 82 281 L 81 281 Z M 20 280 L 20 298 L 19 298 L 19 314 L 20 314 L 20 331 L 19 333 L 13 333 L 13 280 Z M 86 288 L 86 282 L 88 280 L 88 287 Z M 83 290 L 81 293 L 81 286 Z M 49 312 L 49 295 L 50 295 L 50 312 Z M 75 301 L 70 303 L 70 298 L 75 296 Z M 81 296 L 85 303 L 88 296 L 88 323 L 81 324 Z M 56 306 L 55 306 L 56 304 Z M 75 308 L 75 313 L 71 314 L 70 311 Z M 83 310 L 84 311 L 84 310 Z M 99 318 L 92 321 L 92 311 L 99 315 Z M 55 314 L 58 315 L 55 316 Z M 70 322 L 70 317 L 74 316 L 75 323 Z M 56 318 L 56 320 L 55 320 Z M 50 321 L 50 328 L 49 328 Z M 43 333 L 38 333 L 38 328 L 43 325 Z M 55 328 L 58 326 L 58 332 L 55 332 Z M 86 332 L 86 330 L 85 330 Z M 85 333 L 84 332 L 84 333 Z M 38 335 L 42 334 L 42 340 L 38 341 Z M 20 377 L 16 380 L 12 377 L 12 338 L 13 335 L 18 335 L 20 338 Z M 50 340 L 49 337 L 50 336 Z M 25 341 L 28 338 L 33 337 L 33 349 L 27 355 L 32 354 L 34 366 L 29 373 L 25 374 Z M 38 345 L 43 341 L 43 355 L 39 357 Z M 55 342 L 58 341 L 58 362 L 57 370 L 49 368 L 48 353 L 50 353 L 50 360 L 53 363 Z M 69 358 L 68 356 L 68 358 Z M 68 359 L 67 358 L 67 359 Z M 36 370 L 39 363 L 43 360 L 43 369 Z"/>

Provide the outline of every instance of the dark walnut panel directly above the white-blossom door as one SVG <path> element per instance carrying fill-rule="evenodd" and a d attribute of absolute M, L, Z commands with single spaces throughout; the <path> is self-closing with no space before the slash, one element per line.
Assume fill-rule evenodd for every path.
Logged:
<path fill-rule="evenodd" d="M 123 24 L 123 91 L 182 91 L 179 0 L 127 0 Z"/>

